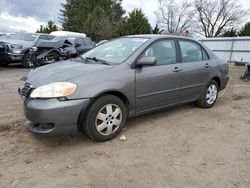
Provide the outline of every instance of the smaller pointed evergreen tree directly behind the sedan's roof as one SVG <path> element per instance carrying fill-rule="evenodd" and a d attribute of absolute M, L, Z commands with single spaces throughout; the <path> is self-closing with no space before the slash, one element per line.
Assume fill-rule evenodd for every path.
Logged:
<path fill-rule="evenodd" d="M 128 17 L 120 20 L 116 29 L 115 36 L 150 34 L 151 26 L 148 19 L 141 9 L 134 9 Z"/>

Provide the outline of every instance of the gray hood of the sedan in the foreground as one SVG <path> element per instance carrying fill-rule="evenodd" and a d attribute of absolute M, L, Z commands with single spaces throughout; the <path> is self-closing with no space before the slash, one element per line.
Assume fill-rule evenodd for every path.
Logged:
<path fill-rule="evenodd" d="M 71 59 L 33 69 L 22 80 L 38 87 L 51 82 L 67 81 L 111 67 L 109 65 L 84 63 L 81 59 Z"/>

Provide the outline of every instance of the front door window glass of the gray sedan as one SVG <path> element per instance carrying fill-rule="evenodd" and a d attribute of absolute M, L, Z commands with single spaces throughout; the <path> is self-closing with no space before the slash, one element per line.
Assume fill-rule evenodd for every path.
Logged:
<path fill-rule="evenodd" d="M 174 40 L 161 40 L 151 45 L 143 54 L 144 57 L 155 57 L 157 65 L 176 63 Z"/>

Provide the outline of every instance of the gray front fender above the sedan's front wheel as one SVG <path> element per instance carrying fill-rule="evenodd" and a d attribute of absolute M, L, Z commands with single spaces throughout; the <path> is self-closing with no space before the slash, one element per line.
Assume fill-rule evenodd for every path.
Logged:
<path fill-rule="evenodd" d="M 126 65 L 128 66 L 128 65 Z M 122 93 L 131 107 L 135 106 L 135 70 L 110 68 L 93 74 L 83 75 L 72 80 L 77 90 L 69 99 L 95 98 L 107 92 Z"/>

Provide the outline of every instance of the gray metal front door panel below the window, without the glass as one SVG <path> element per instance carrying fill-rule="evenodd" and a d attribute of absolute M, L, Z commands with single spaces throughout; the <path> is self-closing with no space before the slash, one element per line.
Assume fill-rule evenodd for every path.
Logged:
<path fill-rule="evenodd" d="M 181 96 L 180 63 L 136 69 L 136 112 L 174 104 Z"/>

